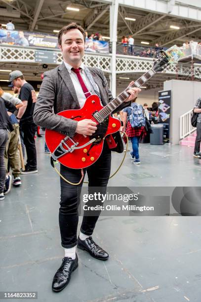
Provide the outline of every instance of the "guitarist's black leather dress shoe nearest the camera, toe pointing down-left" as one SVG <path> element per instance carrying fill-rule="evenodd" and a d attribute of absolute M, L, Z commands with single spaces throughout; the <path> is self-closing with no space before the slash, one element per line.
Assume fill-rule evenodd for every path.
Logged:
<path fill-rule="evenodd" d="M 52 290 L 54 292 L 62 291 L 69 283 L 71 279 L 71 273 L 78 267 L 78 256 L 76 259 L 70 257 L 64 257 L 62 264 L 54 275 L 52 281 Z"/>

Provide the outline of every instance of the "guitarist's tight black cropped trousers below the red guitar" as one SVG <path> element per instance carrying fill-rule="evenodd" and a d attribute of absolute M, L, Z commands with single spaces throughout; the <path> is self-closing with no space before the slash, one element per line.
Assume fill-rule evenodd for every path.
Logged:
<path fill-rule="evenodd" d="M 104 143 L 103 151 L 98 160 L 90 167 L 83 169 L 84 174 L 88 175 L 89 192 L 92 187 L 102 187 L 101 193 L 106 192 L 111 168 L 111 151 L 107 143 Z M 80 169 L 69 169 L 63 165 L 60 168 L 61 175 L 72 183 L 78 183 L 81 178 Z M 59 209 L 59 227 L 61 233 L 61 245 L 64 248 L 71 248 L 77 244 L 77 228 L 79 221 L 78 208 L 80 204 L 80 191 L 82 183 L 79 186 L 72 186 L 60 178 L 61 201 Z M 85 213 L 84 213 L 85 214 Z M 100 211 L 97 216 L 83 216 L 81 232 L 91 235 L 96 225 Z"/>

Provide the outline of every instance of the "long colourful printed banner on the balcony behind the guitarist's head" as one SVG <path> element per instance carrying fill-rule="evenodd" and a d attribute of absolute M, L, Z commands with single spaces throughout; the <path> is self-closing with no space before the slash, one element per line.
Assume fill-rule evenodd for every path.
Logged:
<path fill-rule="evenodd" d="M 4 29 L 0 30 L 0 44 L 58 49 L 56 36 L 23 31 L 7 31 Z M 86 39 L 85 50 L 89 52 L 109 53 L 109 43 L 106 41 Z"/>

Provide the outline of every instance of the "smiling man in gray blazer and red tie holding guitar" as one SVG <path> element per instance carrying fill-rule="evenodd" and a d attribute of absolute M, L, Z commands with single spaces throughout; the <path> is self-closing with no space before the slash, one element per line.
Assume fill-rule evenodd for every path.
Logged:
<path fill-rule="evenodd" d="M 34 113 L 37 125 L 68 135 L 70 138 L 74 137 L 76 133 L 82 137 L 92 136 L 97 130 L 97 123 L 87 118 L 77 121 L 56 113 L 80 109 L 86 98 L 94 94 L 100 97 L 102 106 L 106 106 L 113 100 L 103 72 L 96 68 L 86 68 L 82 63 L 84 43 L 85 32 L 76 23 L 71 23 L 60 30 L 58 44 L 64 61 L 60 66 L 44 74 Z M 131 82 L 130 85 L 133 83 Z M 129 106 L 130 101 L 137 97 L 139 91 L 141 91 L 140 88 L 129 87 L 127 98 L 115 112 Z M 61 164 L 60 172 L 72 183 L 79 183 L 81 173 L 84 175 L 87 172 L 89 187 L 103 187 L 106 190 L 110 168 L 111 151 L 104 141 L 100 157 L 88 168 L 70 169 Z M 83 179 L 78 186 L 74 186 L 60 178 L 59 226 L 65 257 L 53 278 L 52 290 L 55 292 L 59 292 L 67 286 L 72 271 L 78 267 L 77 243 L 78 248 L 87 251 L 96 259 L 107 260 L 109 257 L 108 253 L 99 247 L 91 237 L 98 216 L 83 216 L 77 240 L 79 189 L 82 183 Z"/>

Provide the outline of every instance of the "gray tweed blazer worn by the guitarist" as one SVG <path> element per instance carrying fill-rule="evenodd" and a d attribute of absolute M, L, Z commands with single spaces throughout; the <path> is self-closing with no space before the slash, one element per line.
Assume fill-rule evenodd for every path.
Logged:
<path fill-rule="evenodd" d="M 107 79 L 100 69 L 90 67 L 89 70 L 99 87 L 101 101 L 105 106 L 113 100 Z M 130 102 L 121 104 L 115 112 L 127 106 L 130 106 Z M 71 77 L 62 63 L 44 73 L 35 105 L 34 122 L 41 127 L 74 136 L 78 122 L 56 114 L 69 109 L 80 109 L 80 105 Z"/>

